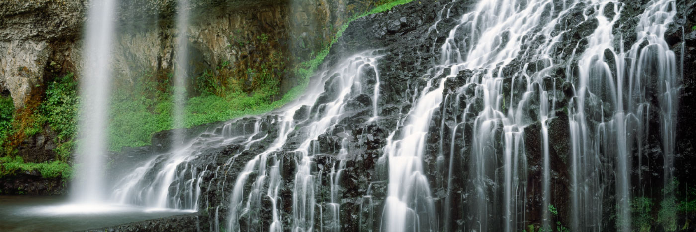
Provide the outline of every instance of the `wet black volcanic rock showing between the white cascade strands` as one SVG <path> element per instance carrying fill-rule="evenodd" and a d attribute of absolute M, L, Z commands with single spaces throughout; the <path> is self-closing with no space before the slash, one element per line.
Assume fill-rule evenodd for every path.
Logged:
<path fill-rule="evenodd" d="M 560 2 L 560 1 L 559 1 Z M 444 81 L 444 91 L 442 94 L 442 103 L 439 106 L 434 106 L 436 109 L 429 122 L 429 131 L 425 136 L 427 141 L 423 148 L 422 165 L 424 166 L 424 176 L 427 177 L 427 182 L 431 188 L 432 201 L 436 205 L 436 211 L 441 213 L 436 222 L 443 231 L 470 230 L 476 228 L 478 222 L 473 218 L 484 217 L 489 219 L 489 224 L 493 225 L 488 228 L 489 231 L 502 231 L 504 229 L 505 218 L 497 213 L 500 213 L 500 207 L 507 200 L 508 196 L 503 194 L 503 186 L 505 177 L 503 170 L 506 167 L 503 142 L 508 136 L 519 135 L 513 137 L 518 139 L 519 143 L 519 163 L 523 169 L 519 169 L 519 186 L 515 186 L 516 193 L 514 197 L 519 200 L 516 207 L 523 207 L 525 211 L 517 212 L 514 217 L 517 218 L 516 226 L 520 228 L 528 228 L 527 225 L 541 224 L 542 214 L 548 210 L 544 208 L 544 142 L 548 142 L 548 165 L 550 169 L 548 173 L 551 182 L 549 189 L 549 199 L 557 208 L 557 214 L 553 216 L 553 223 L 562 222 L 568 225 L 571 222 L 571 166 L 573 164 L 573 147 L 571 144 L 571 129 L 572 122 L 571 110 L 576 103 L 574 96 L 577 94 L 575 85 L 577 85 L 574 77 L 578 74 L 576 65 L 578 62 L 578 54 L 585 51 L 589 41 L 587 35 L 593 33 L 599 22 L 594 17 L 585 19 L 585 15 L 596 15 L 603 13 L 608 17 L 617 17 L 614 12 L 615 6 L 624 6 L 620 18 L 617 19 L 618 28 L 615 28 L 615 35 L 624 40 L 616 40 L 615 44 L 621 42 L 629 46 L 635 41 L 635 18 L 642 13 L 647 1 L 623 1 L 623 3 L 609 3 L 603 12 L 588 8 L 584 3 L 580 3 L 569 9 L 567 15 L 561 20 L 563 24 L 557 25 L 551 31 L 551 36 L 560 35 L 562 41 L 553 44 L 549 48 L 549 54 L 552 58 L 539 58 L 528 56 L 527 51 L 544 46 L 544 41 L 548 35 L 535 35 L 524 40 L 519 54 L 514 54 L 514 58 L 509 60 L 505 65 L 495 65 L 494 69 L 465 69 L 457 74 L 450 74 L 452 69 L 446 68 L 440 72 L 433 71 L 430 67 L 439 65 L 441 60 L 441 47 L 445 42 L 445 31 L 450 31 L 457 25 L 457 19 L 445 18 L 441 19 L 436 26 L 438 13 L 443 9 L 450 10 L 453 15 L 462 15 L 473 6 L 473 1 L 456 1 L 450 3 L 448 1 L 421 0 L 413 1 L 404 6 L 397 6 L 386 13 L 370 15 L 361 19 L 356 19 L 343 33 L 343 36 L 338 39 L 338 42 L 333 44 L 331 51 L 326 56 L 324 65 L 331 68 L 338 65 L 340 60 L 346 56 L 358 53 L 365 50 L 379 49 L 379 58 L 377 69 L 379 70 L 379 98 L 377 99 L 377 112 L 379 117 L 373 118 L 374 104 L 374 86 L 377 77 L 377 72 L 367 71 L 361 74 L 361 86 L 354 86 L 351 91 L 359 92 L 354 94 L 349 99 L 345 99 L 346 106 L 342 115 L 336 115 L 331 119 L 331 123 L 335 124 L 323 133 L 312 138 L 310 141 L 310 151 L 302 151 L 300 147 L 304 138 L 310 134 L 312 130 L 313 120 L 322 118 L 326 115 L 327 108 L 331 102 L 338 97 L 338 92 L 341 91 L 340 84 L 336 78 L 338 74 L 331 76 L 326 85 L 322 86 L 325 92 L 322 93 L 314 103 L 309 103 L 311 106 L 301 106 L 299 110 L 292 113 L 292 119 L 296 124 L 292 129 L 283 127 L 279 122 L 280 117 L 274 115 L 266 115 L 260 117 L 244 117 L 237 119 L 229 124 L 214 124 L 209 125 L 207 129 L 193 129 L 190 133 L 192 137 L 208 138 L 213 140 L 213 136 L 207 132 L 228 133 L 228 138 L 232 135 L 250 136 L 253 140 L 258 140 L 249 147 L 244 147 L 243 142 L 235 142 L 232 144 L 224 144 L 221 141 L 213 140 L 203 141 L 200 144 L 213 144 L 203 146 L 198 150 L 196 158 L 190 161 L 187 165 L 196 169 L 200 174 L 200 190 L 202 192 L 198 203 L 202 212 L 207 213 L 209 217 L 198 217 L 200 223 L 191 221 L 192 219 L 178 219 L 179 221 L 189 222 L 191 225 L 203 224 L 200 226 L 202 230 L 217 229 L 214 225 L 226 225 L 230 212 L 230 195 L 235 188 L 235 181 L 240 175 L 248 175 L 244 185 L 237 186 L 244 190 L 244 200 L 249 192 L 255 188 L 253 180 L 256 180 L 260 172 L 253 171 L 251 173 L 243 173 L 245 166 L 251 160 L 259 163 L 262 167 L 271 168 L 277 165 L 278 172 L 283 176 L 283 180 L 279 183 L 278 197 L 274 199 L 269 197 L 266 188 L 269 180 L 264 179 L 264 187 L 260 188 L 260 192 L 255 192 L 258 201 L 249 201 L 249 204 L 255 204 L 256 207 L 244 215 L 239 215 L 234 218 L 242 226 L 242 231 L 267 230 L 273 221 L 273 209 L 276 204 L 280 215 L 283 229 L 292 230 L 294 223 L 294 202 L 293 195 L 298 190 L 296 188 L 295 178 L 299 170 L 303 154 L 313 155 L 310 163 L 310 174 L 314 178 L 314 199 L 315 204 L 315 230 L 319 229 L 341 229 L 343 231 L 358 231 L 358 230 L 379 230 L 382 223 L 383 206 L 388 193 L 388 158 L 384 157 L 384 147 L 392 133 L 393 138 L 398 138 L 404 129 L 402 128 L 405 122 L 408 122 L 409 116 L 406 114 L 413 110 L 416 106 L 416 99 L 420 94 L 423 94 L 427 80 L 432 79 L 432 85 L 438 85 Z M 555 1 L 555 4 L 560 4 Z M 690 3 L 693 6 L 693 3 Z M 548 13 L 541 15 L 542 19 L 548 19 L 551 15 L 551 6 Z M 556 9 L 559 9 L 558 6 Z M 693 44 L 689 44 L 691 37 L 688 31 L 689 26 L 696 25 L 694 23 L 693 9 L 684 8 L 679 5 L 679 22 L 680 26 L 685 26 L 684 40 L 671 41 L 672 50 L 677 53 L 677 60 L 683 60 L 683 79 L 681 79 L 682 88 L 679 94 L 679 112 L 677 114 L 677 138 L 676 138 L 676 155 L 675 155 L 675 170 L 674 175 L 677 179 L 688 179 L 694 174 L 696 169 L 695 147 L 696 144 L 696 128 L 690 120 L 696 117 L 696 109 L 693 104 L 696 99 L 696 49 Z M 557 12 L 556 12 L 557 13 Z M 434 31 L 439 31 L 435 33 Z M 671 31 L 672 33 L 676 33 Z M 464 33 L 464 32 L 459 32 Z M 687 36 L 688 35 L 688 36 Z M 466 35 L 461 34 L 464 37 Z M 668 36 L 674 37 L 674 34 Z M 679 35 L 681 36 L 681 35 Z M 681 37 L 677 38 L 681 38 Z M 499 36 L 501 41 L 509 40 L 511 35 L 509 32 Z M 618 47 L 618 46 L 617 46 Z M 684 53 L 681 53 L 681 51 Z M 605 60 L 608 63 L 615 63 L 618 56 L 612 52 L 604 53 Z M 466 54 L 464 54 L 466 55 Z M 615 67 L 612 67 L 615 68 Z M 368 69 L 372 70 L 372 69 Z M 535 75 L 532 78 L 525 75 Z M 543 74 L 543 75 L 542 75 Z M 477 115 L 484 110 L 491 110 L 491 103 L 486 103 L 489 99 L 484 99 L 484 84 L 468 83 L 471 78 L 482 78 L 482 76 L 501 76 L 499 82 L 500 92 L 503 96 L 498 99 L 497 114 L 505 115 L 516 112 L 509 112 L 510 108 L 521 107 L 519 116 L 519 124 L 514 128 L 505 128 L 499 118 L 490 119 L 491 126 L 487 131 L 477 131 L 480 129 L 480 118 Z M 316 78 L 316 77 L 315 77 Z M 446 78 L 446 79 L 445 79 Z M 538 81 L 537 81 L 538 80 Z M 316 80 L 313 80 L 316 81 Z M 659 117 L 656 93 L 653 89 L 654 83 L 649 83 L 650 91 L 647 91 L 649 104 L 651 104 L 649 114 L 649 128 L 651 134 L 647 141 L 640 141 L 643 144 L 642 150 L 645 151 L 638 162 L 638 154 L 633 154 L 633 174 L 651 173 L 652 176 L 642 177 L 642 180 L 637 178 L 632 179 L 631 186 L 641 186 L 641 183 L 650 183 L 655 186 L 662 186 L 663 181 L 661 160 L 663 152 L 663 144 L 661 144 L 660 134 L 658 131 L 661 122 Z M 530 90 L 527 90 L 530 86 Z M 544 91 L 542 91 L 544 90 Z M 512 94 L 512 95 L 511 95 Z M 543 95 L 547 94 L 547 95 Z M 548 102 L 541 100 L 542 96 L 548 96 Z M 523 97 L 527 100 L 523 101 L 520 106 L 512 105 L 522 102 Z M 587 121 L 592 123 L 606 122 L 612 116 L 612 106 L 601 100 L 601 94 L 597 96 L 587 97 L 585 106 L 587 108 L 601 108 L 600 113 L 586 115 Z M 511 102 L 512 101 L 512 102 Z M 548 103 L 548 115 L 550 118 L 545 122 L 543 113 L 539 109 L 539 105 Z M 262 132 L 251 135 L 253 126 L 256 122 L 262 125 Z M 543 124 L 542 124 L 543 123 Z M 205 127 L 205 126 L 204 126 Z M 280 144 L 278 151 L 267 149 L 273 144 L 276 139 L 281 136 L 280 129 L 292 130 L 287 135 L 287 138 L 280 137 L 285 141 Z M 544 128 L 548 128 L 548 141 L 544 138 Z M 210 131 L 207 131 L 210 130 Z M 506 131 L 509 130 L 509 131 Z M 207 132 L 206 132 L 207 131 Z M 226 132 L 228 131 L 228 132 Z M 592 131 L 594 135 L 596 131 Z M 192 138 L 191 137 L 191 138 Z M 171 132 L 162 132 L 155 135 L 153 145 L 151 147 L 141 147 L 134 149 L 126 149 L 117 158 L 117 162 L 127 159 L 143 159 L 145 155 L 154 151 L 166 151 L 169 149 L 168 140 L 171 139 Z M 472 144 L 478 142 L 481 147 L 473 147 Z M 347 154 L 342 154 L 341 148 L 347 150 Z M 480 157 L 475 157 L 474 149 L 481 149 L 489 154 L 484 160 Z M 262 160 L 260 154 L 268 154 L 268 160 Z M 332 176 L 333 168 L 340 165 L 339 156 L 345 156 L 345 169 L 340 174 L 340 179 L 334 179 Z M 518 156 L 516 154 L 515 156 Z M 616 165 L 616 159 L 613 156 L 603 155 L 596 157 L 606 167 L 601 167 L 602 184 L 606 186 L 615 185 L 615 177 L 612 165 Z M 125 161 L 124 161 L 125 162 Z M 262 163 L 265 162 L 265 163 Z M 265 166 L 264 166 L 265 165 Z M 482 170 L 486 172 L 481 179 L 474 179 L 477 172 L 476 165 L 482 165 L 488 169 Z M 189 167 L 189 166 L 187 166 Z M 610 176 L 610 177 L 605 177 Z M 268 178 L 268 176 L 264 176 Z M 643 181 L 643 182 L 640 182 Z M 338 185 L 333 185 L 338 183 Z M 480 188 L 481 189 L 477 189 Z M 683 186 L 681 186 L 683 187 Z M 642 191 L 646 196 L 661 196 L 661 187 L 653 187 L 653 189 L 631 189 L 632 192 Z M 484 193 L 485 199 L 477 199 L 477 194 Z M 613 189 L 601 192 L 603 197 L 601 205 L 606 206 L 601 210 L 600 217 L 612 218 L 615 220 L 617 213 L 616 192 Z M 332 197 L 340 199 L 340 210 L 337 216 L 340 219 L 339 224 L 331 224 L 335 222 L 333 216 L 329 213 Z M 485 201 L 484 204 L 489 207 L 481 209 L 479 201 Z M 319 208 L 321 210 L 319 210 Z M 475 210 L 469 210 L 475 208 Z M 495 208 L 495 210 L 493 210 Z M 484 212 L 484 213 L 482 213 Z M 656 213 L 656 210 L 655 212 Z M 182 216 L 183 217 L 183 216 Z M 679 219 L 682 224 L 686 219 Z M 145 223 L 144 227 L 126 226 L 119 227 L 122 229 L 141 230 L 145 229 L 170 229 L 173 225 L 171 221 L 166 219 L 157 221 L 152 220 Z M 177 222 L 178 223 L 178 222 Z M 182 227 L 184 229 L 192 228 Z M 155 227 L 163 226 L 163 227 Z M 602 229 L 615 230 L 615 221 L 607 222 L 601 225 Z M 115 228 L 116 229 L 116 228 Z M 585 228 L 580 228 L 580 230 Z M 118 230 L 118 229 L 117 229 Z"/>

